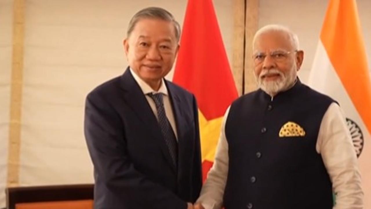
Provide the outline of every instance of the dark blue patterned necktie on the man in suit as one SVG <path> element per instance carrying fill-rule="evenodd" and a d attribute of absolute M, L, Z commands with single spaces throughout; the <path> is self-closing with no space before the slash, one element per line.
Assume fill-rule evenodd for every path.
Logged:
<path fill-rule="evenodd" d="M 157 109 L 158 124 L 160 125 L 162 136 L 164 137 L 167 148 L 169 149 L 171 159 L 173 160 L 173 163 L 176 168 L 177 159 L 178 159 L 178 153 L 177 153 L 178 144 L 177 144 L 177 139 L 175 138 L 173 128 L 171 128 L 170 122 L 166 117 L 162 94 L 161 93 L 158 93 L 158 94 L 149 93 L 147 95 L 150 96 L 152 100 L 155 102 L 156 109 Z"/>

